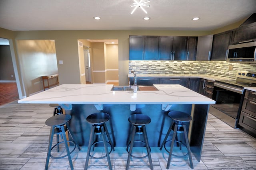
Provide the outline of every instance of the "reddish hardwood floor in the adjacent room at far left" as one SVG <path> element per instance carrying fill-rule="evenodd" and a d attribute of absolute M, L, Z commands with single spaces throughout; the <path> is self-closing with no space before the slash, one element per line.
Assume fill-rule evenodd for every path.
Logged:
<path fill-rule="evenodd" d="M 19 98 L 16 82 L 0 83 L 0 106 L 13 102 Z"/>

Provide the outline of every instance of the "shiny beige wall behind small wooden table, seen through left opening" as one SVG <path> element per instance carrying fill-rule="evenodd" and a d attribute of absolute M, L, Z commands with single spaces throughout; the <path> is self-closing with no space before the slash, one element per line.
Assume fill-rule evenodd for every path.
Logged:
<path fill-rule="evenodd" d="M 43 89 L 41 76 L 58 74 L 55 43 L 50 40 L 18 40 L 18 58 L 26 96 Z M 50 80 L 50 84 L 53 84 Z"/>

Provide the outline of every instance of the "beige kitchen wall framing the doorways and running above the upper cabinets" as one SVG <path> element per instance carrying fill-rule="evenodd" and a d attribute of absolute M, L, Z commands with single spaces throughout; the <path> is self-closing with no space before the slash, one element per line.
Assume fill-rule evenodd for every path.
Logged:
<path fill-rule="evenodd" d="M 212 31 L 175 31 L 175 30 L 70 30 L 70 31 L 10 31 L 0 28 L 0 37 L 10 41 L 12 58 L 15 72 L 18 76 L 18 84 L 21 95 L 24 94 L 21 68 L 17 58 L 17 40 L 55 40 L 57 61 L 62 60 L 63 64 L 58 65 L 60 84 L 80 84 L 80 67 L 78 55 L 78 39 L 118 39 L 118 78 L 120 85 L 128 84 L 129 65 L 129 35 L 181 35 L 181 36 L 201 36 L 227 31 L 239 27 L 244 20 L 227 25 Z M 16 63 L 15 63 L 16 62 Z M 97 70 L 94 68 L 94 70 Z M 20 95 L 20 97 L 21 97 Z"/>

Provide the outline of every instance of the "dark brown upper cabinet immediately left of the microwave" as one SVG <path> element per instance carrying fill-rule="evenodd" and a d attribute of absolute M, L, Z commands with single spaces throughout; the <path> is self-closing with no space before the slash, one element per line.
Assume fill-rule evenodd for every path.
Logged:
<path fill-rule="evenodd" d="M 226 61 L 231 35 L 232 30 L 229 30 L 213 36 L 211 61 Z"/>

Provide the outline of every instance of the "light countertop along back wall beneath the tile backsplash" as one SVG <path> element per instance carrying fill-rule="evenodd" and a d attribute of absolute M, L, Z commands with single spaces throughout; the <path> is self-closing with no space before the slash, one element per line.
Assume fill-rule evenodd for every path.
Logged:
<path fill-rule="evenodd" d="M 137 77 L 152 77 L 152 78 L 204 78 L 206 80 L 212 80 L 212 81 L 227 80 L 225 76 L 211 76 L 208 74 L 136 74 L 136 75 Z M 133 78 L 133 74 L 128 73 L 128 77 Z"/>

